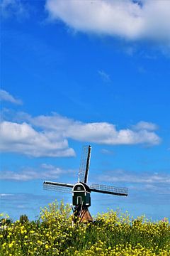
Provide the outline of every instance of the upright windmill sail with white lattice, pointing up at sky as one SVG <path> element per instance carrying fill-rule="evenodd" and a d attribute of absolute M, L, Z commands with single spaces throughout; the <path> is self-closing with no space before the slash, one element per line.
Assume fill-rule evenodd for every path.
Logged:
<path fill-rule="evenodd" d="M 91 146 L 84 146 L 81 153 L 79 181 L 87 183 L 91 158 Z"/>

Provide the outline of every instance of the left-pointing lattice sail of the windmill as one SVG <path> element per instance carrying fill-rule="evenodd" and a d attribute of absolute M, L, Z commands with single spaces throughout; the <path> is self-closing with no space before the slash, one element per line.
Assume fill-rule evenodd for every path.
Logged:
<path fill-rule="evenodd" d="M 68 183 L 59 183 L 52 181 L 44 181 L 43 188 L 49 191 L 59 191 L 64 193 L 72 193 L 72 188 L 74 185 Z"/>

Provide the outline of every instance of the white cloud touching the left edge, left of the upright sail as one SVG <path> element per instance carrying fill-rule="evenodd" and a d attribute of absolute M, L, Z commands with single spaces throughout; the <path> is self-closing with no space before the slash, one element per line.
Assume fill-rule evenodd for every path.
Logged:
<path fill-rule="evenodd" d="M 1 122 L 0 150 L 26 154 L 28 156 L 74 156 L 74 150 L 68 147 L 67 139 L 52 133 L 38 132 L 23 122 Z"/>

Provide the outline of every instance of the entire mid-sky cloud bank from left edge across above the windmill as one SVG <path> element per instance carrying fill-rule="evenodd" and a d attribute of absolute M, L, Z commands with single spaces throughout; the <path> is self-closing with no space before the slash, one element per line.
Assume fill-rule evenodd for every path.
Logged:
<path fill-rule="evenodd" d="M 156 124 L 139 122 L 131 129 L 117 129 L 108 122 L 80 122 L 59 114 L 31 117 L 26 113 L 15 115 L 15 121 L 0 124 L 1 151 L 28 156 L 74 156 L 69 139 L 78 142 L 106 145 L 157 145 L 161 142 L 155 133 Z"/>

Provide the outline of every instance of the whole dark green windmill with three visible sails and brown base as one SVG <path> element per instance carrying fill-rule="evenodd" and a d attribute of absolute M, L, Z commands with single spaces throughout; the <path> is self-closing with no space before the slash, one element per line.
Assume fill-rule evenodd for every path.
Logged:
<path fill-rule="evenodd" d="M 128 188 L 106 186 L 92 183 L 87 185 L 89 165 L 91 158 L 91 146 L 84 146 L 81 153 L 81 164 L 79 168 L 78 182 L 75 184 L 44 181 L 43 187 L 50 191 L 60 191 L 72 193 L 72 206 L 75 217 L 79 217 L 80 222 L 93 221 L 89 206 L 91 206 L 91 192 L 106 193 L 115 196 L 128 196 Z"/>

